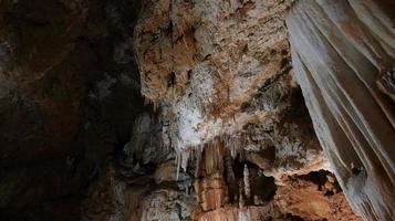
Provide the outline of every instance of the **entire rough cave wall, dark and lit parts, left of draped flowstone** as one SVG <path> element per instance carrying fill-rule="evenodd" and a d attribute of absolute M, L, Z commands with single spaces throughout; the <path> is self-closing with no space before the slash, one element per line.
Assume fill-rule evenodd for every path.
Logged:
<path fill-rule="evenodd" d="M 0 220 L 358 220 L 293 82 L 290 7 L 0 1 Z"/>

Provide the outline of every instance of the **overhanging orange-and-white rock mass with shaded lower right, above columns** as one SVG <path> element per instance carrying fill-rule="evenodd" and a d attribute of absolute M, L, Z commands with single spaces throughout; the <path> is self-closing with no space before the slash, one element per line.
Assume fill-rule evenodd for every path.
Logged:
<path fill-rule="evenodd" d="M 328 168 L 290 77 L 289 6 L 145 2 L 135 33 L 142 94 L 160 107 L 164 145 L 184 169 L 218 137 L 277 178 Z"/>

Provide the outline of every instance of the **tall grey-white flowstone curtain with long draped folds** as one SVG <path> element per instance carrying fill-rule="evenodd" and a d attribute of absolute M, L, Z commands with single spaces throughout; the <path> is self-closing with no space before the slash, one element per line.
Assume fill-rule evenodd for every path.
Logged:
<path fill-rule="evenodd" d="M 293 70 L 345 196 L 394 220 L 394 3 L 299 1 L 287 19 Z"/>

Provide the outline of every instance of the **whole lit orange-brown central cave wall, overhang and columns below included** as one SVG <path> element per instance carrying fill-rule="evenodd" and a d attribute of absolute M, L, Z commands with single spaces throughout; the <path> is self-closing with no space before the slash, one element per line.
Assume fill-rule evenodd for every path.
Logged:
<path fill-rule="evenodd" d="M 143 3 L 134 41 L 142 95 L 164 123 L 176 177 L 193 172 L 191 220 L 360 220 L 321 170 L 331 168 L 293 82 L 291 6 Z M 324 173 L 319 183 L 301 177 L 314 171 Z"/>

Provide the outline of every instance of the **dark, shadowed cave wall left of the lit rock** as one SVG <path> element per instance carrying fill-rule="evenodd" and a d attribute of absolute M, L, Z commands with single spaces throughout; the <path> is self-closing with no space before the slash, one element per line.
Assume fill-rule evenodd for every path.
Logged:
<path fill-rule="evenodd" d="M 0 220 L 79 220 L 143 110 L 138 1 L 0 1 Z M 67 214 L 67 215 L 64 215 Z"/>

